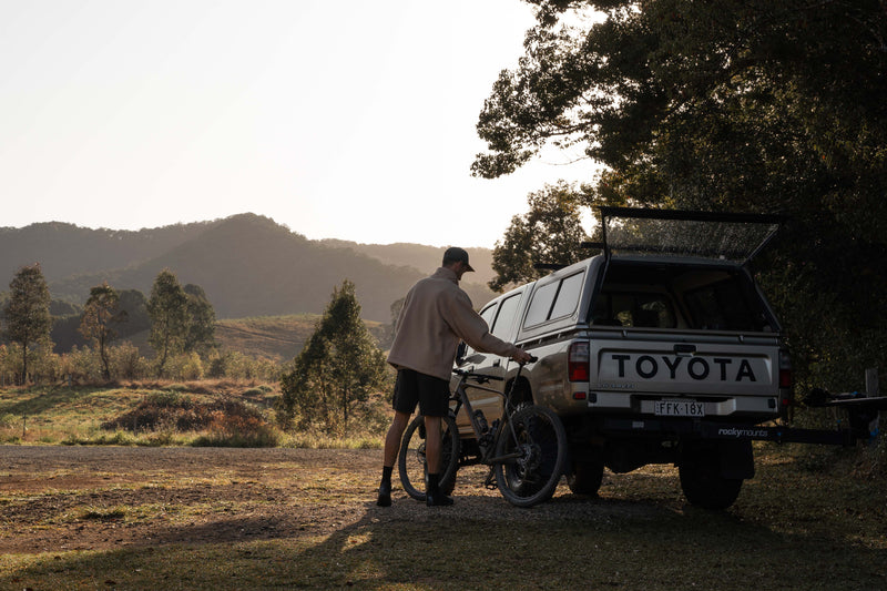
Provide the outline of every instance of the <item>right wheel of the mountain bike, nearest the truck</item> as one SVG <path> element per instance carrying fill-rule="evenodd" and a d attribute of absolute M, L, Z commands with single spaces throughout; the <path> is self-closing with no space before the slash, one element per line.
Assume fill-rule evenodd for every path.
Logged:
<path fill-rule="evenodd" d="M 532 507 L 554 495 L 567 461 L 567 432 L 558 416 L 540 406 L 514 412 L 499 437 L 496 483 L 517 507 Z M 513 427 L 513 431 L 512 428 Z"/>

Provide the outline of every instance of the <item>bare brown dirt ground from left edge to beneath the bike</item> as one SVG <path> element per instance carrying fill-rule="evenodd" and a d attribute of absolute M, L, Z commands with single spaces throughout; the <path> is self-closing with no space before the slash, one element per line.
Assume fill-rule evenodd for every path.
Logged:
<path fill-rule="evenodd" d="M 381 451 L 0 446 L 0 553 L 212 543 L 326 534 L 359 520 L 608 520 L 653 507 L 569 493 L 530 511 L 460 469 L 455 508 L 427 508 L 396 486 L 375 506 Z M 397 476 L 395 475 L 395 479 Z"/>

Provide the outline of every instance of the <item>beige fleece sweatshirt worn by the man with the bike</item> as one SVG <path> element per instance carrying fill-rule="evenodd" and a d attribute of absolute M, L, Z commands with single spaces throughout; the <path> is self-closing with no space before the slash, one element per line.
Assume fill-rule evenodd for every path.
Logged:
<path fill-rule="evenodd" d="M 440 267 L 407 293 L 388 363 L 449 380 L 459 339 L 481 353 L 504 357 L 517 353 L 514 345 L 490 334 L 459 288 L 456 273 Z"/>

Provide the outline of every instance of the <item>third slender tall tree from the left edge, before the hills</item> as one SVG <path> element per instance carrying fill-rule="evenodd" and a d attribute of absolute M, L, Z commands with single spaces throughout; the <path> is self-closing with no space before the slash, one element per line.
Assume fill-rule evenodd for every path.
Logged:
<path fill-rule="evenodd" d="M 165 268 L 151 287 L 147 313 L 151 316 L 149 343 L 157 354 L 157 376 L 162 376 L 172 355 L 184 350 L 187 333 L 187 295 L 175 274 Z"/>

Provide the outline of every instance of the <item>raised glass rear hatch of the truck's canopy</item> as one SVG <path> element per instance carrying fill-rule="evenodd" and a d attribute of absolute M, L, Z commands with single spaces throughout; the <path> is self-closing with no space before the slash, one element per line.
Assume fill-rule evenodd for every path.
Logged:
<path fill-rule="evenodd" d="M 745 264 L 776 234 L 778 215 L 601 207 L 608 256 L 675 256 Z"/>

